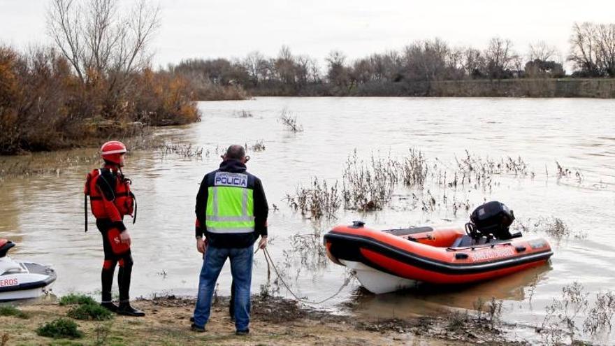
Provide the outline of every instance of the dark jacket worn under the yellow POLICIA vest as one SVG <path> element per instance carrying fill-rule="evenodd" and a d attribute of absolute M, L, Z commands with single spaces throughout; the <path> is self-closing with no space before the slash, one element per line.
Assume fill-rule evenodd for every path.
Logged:
<path fill-rule="evenodd" d="M 243 173 L 248 176 L 247 188 L 252 189 L 254 196 L 254 233 L 210 233 L 205 226 L 205 208 L 207 207 L 208 188 L 214 186 L 215 173 Z M 220 168 L 216 171 L 205 174 L 201 181 L 201 188 L 196 194 L 196 238 L 201 238 L 203 234 L 208 240 L 208 245 L 214 247 L 248 247 L 254 244 L 254 240 L 259 236 L 267 235 L 267 216 L 269 206 L 263 190 L 263 184 L 259 178 L 247 173 L 245 164 L 237 160 L 222 161 Z"/>

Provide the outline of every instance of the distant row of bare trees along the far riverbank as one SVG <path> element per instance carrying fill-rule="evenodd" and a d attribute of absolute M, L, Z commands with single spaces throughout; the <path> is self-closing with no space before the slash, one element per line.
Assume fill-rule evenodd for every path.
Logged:
<path fill-rule="evenodd" d="M 167 70 L 189 80 L 242 87 L 254 95 L 387 94 L 393 85 L 440 80 L 615 77 L 615 24 L 574 24 L 570 54 L 563 58 L 547 43 L 520 55 L 512 41 L 491 38 L 484 50 L 452 47 L 439 38 L 415 41 L 401 50 L 351 61 L 332 51 L 321 69 L 317 60 L 282 46 L 277 57 L 251 52 L 241 59 L 189 59 Z M 563 64 L 571 62 L 567 75 Z"/>

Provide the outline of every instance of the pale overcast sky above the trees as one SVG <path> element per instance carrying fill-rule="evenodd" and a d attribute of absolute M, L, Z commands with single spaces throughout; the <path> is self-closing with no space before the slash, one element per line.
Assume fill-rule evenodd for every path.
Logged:
<path fill-rule="evenodd" d="M 131 0 L 122 0 L 129 3 Z M 351 58 L 439 37 L 484 48 L 510 38 L 517 52 L 547 41 L 565 56 L 576 22 L 615 22 L 615 0 L 161 0 L 154 64 L 194 57 L 243 57 L 259 50 L 322 61 L 333 49 Z M 48 0 L 0 0 L 0 43 L 48 43 Z"/>

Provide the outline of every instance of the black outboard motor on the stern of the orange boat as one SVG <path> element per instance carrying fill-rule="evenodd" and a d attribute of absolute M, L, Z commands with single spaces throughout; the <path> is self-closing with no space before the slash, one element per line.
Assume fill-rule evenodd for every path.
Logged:
<path fill-rule="evenodd" d="M 507 240 L 521 236 L 521 232 L 510 234 L 509 226 L 514 221 L 514 212 L 504 203 L 492 201 L 476 208 L 470 215 L 465 230 L 472 238 L 495 238 Z"/>

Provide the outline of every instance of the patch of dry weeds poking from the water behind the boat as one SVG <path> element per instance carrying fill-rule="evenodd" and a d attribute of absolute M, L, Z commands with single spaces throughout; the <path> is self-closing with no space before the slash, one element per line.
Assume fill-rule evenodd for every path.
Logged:
<path fill-rule="evenodd" d="M 309 188 L 300 185 L 294 194 L 287 194 L 289 206 L 301 211 L 302 215 L 319 219 L 335 217 L 341 207 L 363 212 L 382 210 L 395 199 L 403 201 L 405 208 L 410 210 L 421 208 L 434 212 L 443 208 L 456 215 L 458 210 L 471 208 L 468 192 L 491 192 L 493 187 L 500 185 L 498 176 L 535 178 L 535 173 L 521 157 L 491 159 L 467 150 L 454 164 L 428 160 L 417 149 L 410 149 L 399 158 L 372 154 L 367 161 L 359 159 L 354 151 L 343 167 L 341 182 L 314 178 Z M 341 189 L 338 184 L 342 185 Z M 404 187 L 411 193 L 401 194 L 403 190 L 400 189 Z M 550 233 L 567 232 L 565 225 L 556 220 L 548 226 Z"/>

